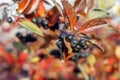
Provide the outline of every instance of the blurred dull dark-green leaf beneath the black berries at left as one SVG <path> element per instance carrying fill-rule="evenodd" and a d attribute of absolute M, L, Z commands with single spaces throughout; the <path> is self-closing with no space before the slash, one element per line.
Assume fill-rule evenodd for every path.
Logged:
<path fill-rule="evenodd" d="M 21 42 L 13 42 L 13 46 L 18 50 L 18 51 L 23 51 L 23 50 L 28 50 L 30 51 L 29 47 Z"/>

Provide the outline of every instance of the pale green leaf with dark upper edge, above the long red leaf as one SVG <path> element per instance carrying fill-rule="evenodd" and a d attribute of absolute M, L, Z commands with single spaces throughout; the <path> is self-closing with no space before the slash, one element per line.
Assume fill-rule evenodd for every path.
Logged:
<path fill-rule="evenodd" d="M 107 11 L 102 9 L 93 9 L 88 14 L 89 19 L 110 17 Z"/>

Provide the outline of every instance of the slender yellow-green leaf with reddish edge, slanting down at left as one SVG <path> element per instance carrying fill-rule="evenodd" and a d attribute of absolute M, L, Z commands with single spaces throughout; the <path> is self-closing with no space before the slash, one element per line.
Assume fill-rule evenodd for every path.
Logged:
<path fill-rule="evenodd" d="M 22 20 L 20 22 L 20 24 L 27 28 L 28 30 L 30 30 L 31 32 L 34 32 L 36 33 L 37 35 L 39 36 L 44 36 L 42 31 L 40 30 L 40 28 L 38 28 L 34 23 L 32 23 L 31 21 L 28 21 L 28 20 Z"/>

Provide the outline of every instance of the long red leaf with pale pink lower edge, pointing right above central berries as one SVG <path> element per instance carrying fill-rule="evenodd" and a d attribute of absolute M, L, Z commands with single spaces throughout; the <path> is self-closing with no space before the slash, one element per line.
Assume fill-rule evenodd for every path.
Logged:
<path fill-rule="evenodd" d="M 77 34 L 84 33 L 84 32 L 86 32 L 86 30 L 90 31 L 92 29 L 98 29 L 101 27 L 99 25 L 103 25 L 103 24 L 106 24 L 106 21 L 104 21 L 103 19 L 100 19 L 100 18 L 89 20 L 80 27 Z"/>

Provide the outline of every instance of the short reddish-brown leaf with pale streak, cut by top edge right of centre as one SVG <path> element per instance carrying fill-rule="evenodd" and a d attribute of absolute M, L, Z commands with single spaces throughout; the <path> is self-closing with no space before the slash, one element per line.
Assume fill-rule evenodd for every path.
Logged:
<path fill-rule="evenodd" d="M 77 13 L 83 12 L 86 8 L 86 0 L 76 0 L 74 3 L 74 8 Z"/>

